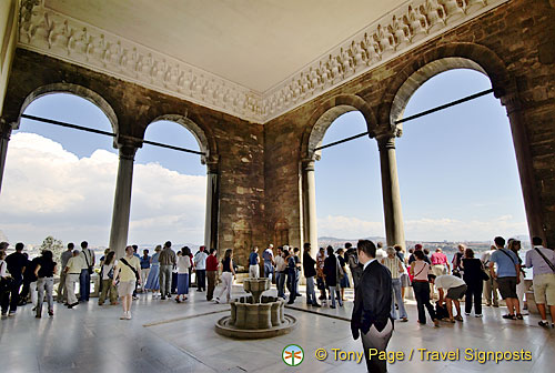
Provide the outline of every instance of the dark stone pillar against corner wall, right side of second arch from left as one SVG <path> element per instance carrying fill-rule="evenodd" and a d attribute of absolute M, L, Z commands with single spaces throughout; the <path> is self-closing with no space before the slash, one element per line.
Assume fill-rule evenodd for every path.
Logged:
<path fill-rule="evenodd" d="M 204 245 L 206 250 L 218 249 L 218 222 L 220 189 L 218 162 L 206 163 L 206 216 L 204 223 Z"/>

